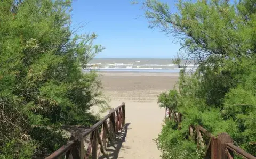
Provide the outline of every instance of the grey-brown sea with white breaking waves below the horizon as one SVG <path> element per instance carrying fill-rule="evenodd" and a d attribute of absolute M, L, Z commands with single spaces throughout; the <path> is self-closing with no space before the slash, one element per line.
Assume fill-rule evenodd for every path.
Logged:
<path fill-rule="evenodd" d="M 181 60 L 181 66 L 185 66 L 185 63 L 186 60 Z M 187 72 L 193 72 L 196 68 L 194 64 L 186 65 Z M 181 69 L 173 64 L 172 59 L 94 58 L 87 64 L 85 71 L 179 73 Z"/>

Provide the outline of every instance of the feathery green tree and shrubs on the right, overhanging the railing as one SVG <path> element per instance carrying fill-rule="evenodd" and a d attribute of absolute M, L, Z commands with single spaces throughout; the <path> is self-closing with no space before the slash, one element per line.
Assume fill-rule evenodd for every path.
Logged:
<path fill-rule="evenodd" d="M 227 132 L 238 146 L 256 156 L 255 3 L 181 0 L 177 13 L 157 0 L 143 3 L 149 27 L 176 37 L 186 58 L 199 65 L 191 75 L 181 70 L 178 92 L 171 90 L 158 98 L 161 107 L 183 114 L 181 130 L 167 124 L 157 139 L 163 158 L 179 158 L 185 149 L 175 146 L 190 141 L 185 138 L 189 125 L 202 125 L 214 135 Z M 179 136 L 179 142 L 172 141 Z"/>

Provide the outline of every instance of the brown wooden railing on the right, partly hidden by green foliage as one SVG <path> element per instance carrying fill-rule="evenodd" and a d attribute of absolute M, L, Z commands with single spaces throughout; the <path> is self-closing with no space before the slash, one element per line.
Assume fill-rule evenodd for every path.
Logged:
<path fill-rule="evenodd" d="M 166 118 L 173 120 L 178 123 L 178 129 L 180 129 L 180 122 L 182 114 L 168 110 L 166 108 Z M 233 139 L 228 133 L 220 133 L 217 137 L 212 135 L 211 132 L 207 131 L 201 126 L 189 128 L 189 135 L 197 143 L 198 149 L 205 149 L 204 158 L 211 159 L 233 159 L 234 155 L 241 156 L 248 159 L 256 159 L 253 155 L 245 152 L 243 149 L 234 145 Z"/>

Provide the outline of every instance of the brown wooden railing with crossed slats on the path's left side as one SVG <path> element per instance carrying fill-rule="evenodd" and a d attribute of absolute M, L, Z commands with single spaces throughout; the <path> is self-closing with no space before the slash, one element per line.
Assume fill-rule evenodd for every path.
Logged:
<path fill-rule="evenodd" d="M 99 122 L 94 124 L 86 131 L 79 133 L 77 136 L 71 137 L 66 145 L 63 145 L 57 151 L 52 153 L 46 159 L 65 157 L 66 159 L 86 159 L 99 158 L 100 152 L 106 153 L 107 138 L 109 141 L 115 140 L 116 133 L 125 125 L 125 103 L 110 111 Z M 84 139 L 90 137 L 89 145 L 85 152 Z"/>

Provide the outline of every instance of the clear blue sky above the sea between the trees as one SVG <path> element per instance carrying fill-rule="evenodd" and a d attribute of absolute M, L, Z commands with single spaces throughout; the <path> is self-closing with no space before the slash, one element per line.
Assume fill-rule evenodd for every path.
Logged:
<path fill-rule="evenodd" d="M 168 4 L 175 7 L 173 1 Z M 72 7 L 73 24 L 84 24 L 78 33 L 95 32 L 95 44 L 106 47 L 96 58 L 173 58 L 181 47 L 173 37 L 148 28 L 141 4 L 131 0 L 74 0 Z"/>

